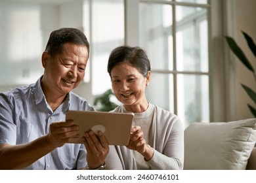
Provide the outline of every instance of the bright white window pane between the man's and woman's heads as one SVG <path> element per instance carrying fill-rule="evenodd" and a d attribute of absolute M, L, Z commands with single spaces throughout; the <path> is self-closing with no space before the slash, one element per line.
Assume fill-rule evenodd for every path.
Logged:
<path fill-rule="evenodd" d="M 112 49 L 124 44 L 124 5 L 123 0 L 92 3 L 92 83 L 93 95 L 98 95 L 112 88 L 107 72 L 108 57 Z"/>

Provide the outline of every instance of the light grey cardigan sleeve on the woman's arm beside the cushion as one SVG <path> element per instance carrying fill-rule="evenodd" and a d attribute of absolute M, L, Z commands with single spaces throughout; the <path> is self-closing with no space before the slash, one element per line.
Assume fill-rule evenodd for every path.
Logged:
<path fill-rule="evenodd" d="M 165 112 L 159 111 L 158 114 L 156 149 L 154 149 L 154 156 L 148 161 L 148 165 L 152 169 L 181 170 L 184 163 L 184 127 L 174 114 L 167 119 Z M 166 120 L 169 122 L 163 123 Z"/>

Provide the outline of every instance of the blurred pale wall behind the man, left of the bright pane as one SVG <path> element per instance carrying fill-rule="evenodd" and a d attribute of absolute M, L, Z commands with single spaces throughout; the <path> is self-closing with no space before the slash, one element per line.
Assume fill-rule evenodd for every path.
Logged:
<path fill-rule="evenodd" d="M 76 0 L 54 5 L 0 1 L 0 92 L 31 84 L 43 75 L 41 54 L 51 31 L 60 27 L 83 30 L 84 2 Z M 36 39 L 33 34 L 37 35 Z M 25 38 L 30 41 L 22 42 Z M 28 76 L 24 76 L 26 69 Z M 74 92 L 93 103 L 90 82 L 80 84 Z"/>

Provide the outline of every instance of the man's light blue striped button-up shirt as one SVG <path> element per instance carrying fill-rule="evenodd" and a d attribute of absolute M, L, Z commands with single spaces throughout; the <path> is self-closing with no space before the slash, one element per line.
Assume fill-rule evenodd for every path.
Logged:
<path fill-rule="evenodd" d="M 0 144 L 24 144 L 49 133 L 52 122 L 65 120 L 67 110 L 95 110 L 70 92 L 54 112 L 49 107 L 41 78 L 35 84 L 0 93 Z M 86 165 L 83 144 L 64 144 L 26 169 L 81 169 Z"/>

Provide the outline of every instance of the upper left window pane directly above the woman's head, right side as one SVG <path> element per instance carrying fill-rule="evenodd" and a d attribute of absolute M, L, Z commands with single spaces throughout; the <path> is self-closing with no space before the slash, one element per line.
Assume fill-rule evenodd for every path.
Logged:
<path fill-rule="evenodd" d="M 171 5 L 139 3 L 139 45 L 145 48 L 154 69 L 173 69 Z"/>

